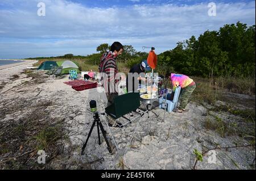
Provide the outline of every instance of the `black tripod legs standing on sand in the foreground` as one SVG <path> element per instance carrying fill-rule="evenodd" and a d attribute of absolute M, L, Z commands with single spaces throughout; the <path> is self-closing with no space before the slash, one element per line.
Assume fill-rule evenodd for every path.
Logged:
<path fill-rule="evenodd" d="M 82 145 L 82 153 L 81 154 L 84 154 L 84 149 L 85 149 L 85 147 L 87 145 L 87 142 L 89 140 L 90 134 L 92 134 L 92 131 L 93 131 L 93 128 L 94 128 L 94 125 L 96 124 L 96 122 L 97 122 L 97 130 L 98 130 L 98 144 L 101 145 L 100 129 L 99 129 L 99 126 L 100 126 L 101 132 L 102 132 L 102 134 L 103 134 L 103 136 L 105 138 L 106 144 L 108 145 L 109 153 L 112 153 L 112 149 L 110 148 L 109 141 L 106 138 L 106 131 L 104 130 L 104 128 L 102 126 L 100 117 L 98 116 L 98 112 L 94 113 L 93 118 L 94 118 L 94 121 L 93 121 L 92 127 L 90 127 L 90 131 L 89 131 L 88 137 L 87 137 L 87 139 L 85 141 L 85 144 Z"/>

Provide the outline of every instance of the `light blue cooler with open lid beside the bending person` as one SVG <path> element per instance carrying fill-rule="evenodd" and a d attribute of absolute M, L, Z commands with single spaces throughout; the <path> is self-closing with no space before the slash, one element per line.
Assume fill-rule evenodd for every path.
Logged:
<path fill-rule="evenodd" d="M 181 87 L 177 87 L 174 93 L 174 100 L 168 100 L 171 97 L 171 94 L 167 94 L 167 100 L 165 99 L 166 97 L 164 96 L 164 98 L 160 98 L 159 99 L 159 108 L 163 108 L 166 109 L 167 112 L 172 112 L 174 110 L 174 108 L 176 108 L 177 106 L 177 102 L 179 100 L 179 95 L 180 95 L 180 90 Z M 164 100 L 166 100 L 166 105 L 164 104 Z"/>

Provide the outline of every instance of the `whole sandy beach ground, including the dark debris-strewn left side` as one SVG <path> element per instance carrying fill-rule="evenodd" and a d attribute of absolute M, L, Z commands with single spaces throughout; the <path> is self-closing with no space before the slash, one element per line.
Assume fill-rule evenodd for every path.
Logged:
<path fill-rule="evenodd" d="M 6 146 L 6 151 L 0 155 L 0 169 L 8 168 L 10 163 L 6 160 L 19 155 L 23 156 L 16 162 L 26 162 L 25 169 L 193 169 L 195 149 L 216 148 L 216 144 L 219 147 L 234 146 L 234 142 L 250 145 L 241 137 L 221 137 L 206 129 L 205 120 L 213 119 L 207 116 L 207 107 L 210 106 L 189 103 L 188 111 L 166 112 L 165 119 L 160 109 L 151 111 L 150 119 L 143 116 L 126 154 L 126 144 L 138 121 L 121 129 L 111 128 L 120 150 L 117 153 L 113 149 L 113 154 L 108 152 L 102 134 L 103 143 L 98 145 L 97 128 L 94 128 L 85 154 L 81 155 L 82 144 L 93 122 L 89 101 L 96 100 L 98 111 L 104 112 L 105 93 L 101 87 L 73 90 L 63 83 L 69 81 L 68 75 L 57 78 L 46 75 L 44 71 L 24 71 L 34 63 L 26 61 L 0 67 L 0 136 Z M 255 101 L 255 97 L 252 99 Z M 212 115 L 227 119 L 216 112 Z M 100 119 L 114 148 L 105 117 L 100 116 Z M 37 164 L 37 150 L 43 145 L 39 144 L 45 135 L 43 131 L 48 128 L 57 130 L 51 134 L 57 139 L 43 147 L 49 161 L 43 166 L 33 166 L 32 163 Z M 56 136 L 58 133 L 63 134 L 59 137 Z M 29 137 L 30 141 L 27 140 Z M 203 162 L 197 162 L 196 169 L 251 169 L 254 158 L 255 149 L 250 147 L 216 149 L 205 154 Z"/>

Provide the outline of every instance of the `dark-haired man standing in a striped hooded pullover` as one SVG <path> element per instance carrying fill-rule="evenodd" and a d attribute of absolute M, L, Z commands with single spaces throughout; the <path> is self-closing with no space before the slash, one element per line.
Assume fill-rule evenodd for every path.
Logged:
<path fill-rule="evenodd" d="M 111 45 L 110 51 L 105 52 L 101 57 L 98 70 L 101 74 L 101 85 L 104 87 L 106 96 L 108 99 L 108 106 L 113 103 L 113 100 L 118 96 L 118 82 L 120 78 L 118 74 L 116 58 L 123 52 L 123 45 L 119 42 L 114 42 Z M 113 120 L 109 120 L 109 126 L 122 127 L 121 123 L 115 123 Z"/>

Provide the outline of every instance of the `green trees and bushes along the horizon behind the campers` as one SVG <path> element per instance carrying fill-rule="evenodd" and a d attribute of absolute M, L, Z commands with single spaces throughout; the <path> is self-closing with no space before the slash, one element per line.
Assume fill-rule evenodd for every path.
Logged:
<path fill-rule="evenodd" d="M 27 59 L 71 59 L 98 65 L 102 53 L 109 47 L 107 43 L 101 44 L 97 47 L 99 53 L 88 56 L 65 54 Z M 118 62 L 123 62 L 130 68 L 146 59 L 147 55 L 146 52 L 137 52 L 132 45 L 124 45 Z M 255 25 L 247 27 L 240 22 L 226 24 L 219 31 L 205 31 L 198 39 L 192 36 L 189 40 L 178 42 L 176 48 L 158 55 L 156 71 L 163 75 L 175 72 L 201 77 L 255 78 Z"/>

